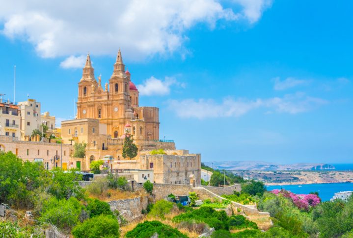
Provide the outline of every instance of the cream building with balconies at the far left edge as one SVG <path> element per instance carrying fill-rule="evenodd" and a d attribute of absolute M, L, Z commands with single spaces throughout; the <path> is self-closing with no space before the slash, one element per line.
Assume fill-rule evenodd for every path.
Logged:
<path fill-rule="evenodd" d="M 10 140 L 18 140 L 21 136 L 20 123 L 19 107 L 0 100 L 0 136 L 11 137 Z"/>

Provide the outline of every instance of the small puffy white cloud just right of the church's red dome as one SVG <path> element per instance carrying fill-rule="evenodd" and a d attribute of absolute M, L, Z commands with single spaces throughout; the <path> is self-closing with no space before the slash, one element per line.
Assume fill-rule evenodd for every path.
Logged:
<path fill-rule="evenodd" d="M 155 78 L 154 76 L 146 79 L 143 84 L 137 85 L 137 89 L 140 95 L 152 96 L 152 95 L 168 95 L 170 93 L 170 87 L 177 85 L 185 88 L 184 83 L 179 83 L 173 77 L 165 77 L 164 80 Z"/>

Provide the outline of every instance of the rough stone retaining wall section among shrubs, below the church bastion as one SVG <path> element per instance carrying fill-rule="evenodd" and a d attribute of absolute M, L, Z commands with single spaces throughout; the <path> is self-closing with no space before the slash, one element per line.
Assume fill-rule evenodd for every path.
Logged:
<path fill-rule="evenodd" d="M 148 198 L 136 197 L 108 202 L 111 211 L 119 211 L 119 213 L 127 220 L 132 221 L 142 216 L 142 209 L 147 208 Z"/>

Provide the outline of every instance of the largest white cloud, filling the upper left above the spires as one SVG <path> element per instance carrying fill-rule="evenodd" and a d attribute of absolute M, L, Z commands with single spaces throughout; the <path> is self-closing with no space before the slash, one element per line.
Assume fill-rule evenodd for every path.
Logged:
<path fill-rule="evenodd" d="M 32 44 L 41 57 L 114 55 L 140 60 L 176 50 L 196 24 L 259 20 L 269 0 L 0 0 L 1 33 Z M 233 9 L 237 9 L 233 10 Z M 187 51 L 187 50 L 186 50 Z"/>

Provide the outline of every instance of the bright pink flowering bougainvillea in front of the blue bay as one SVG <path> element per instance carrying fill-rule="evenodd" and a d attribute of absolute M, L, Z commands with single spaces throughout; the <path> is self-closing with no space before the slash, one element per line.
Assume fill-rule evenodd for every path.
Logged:
<path fill-rule="evenodd" d="M 315 207 L 320 203 L 320 198 L 316 194 L 295 194 L 291 191 L 278 189 L 274 189 L 271 192 L 277 196 L 280 194 L 284 197 L 291 198 L 296 207 L 307 211 L 310 207 Z"/>

